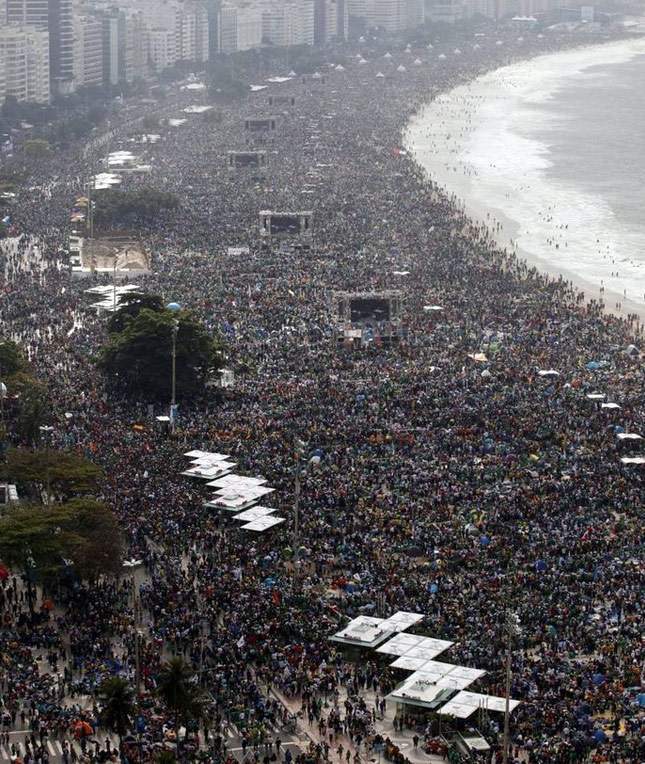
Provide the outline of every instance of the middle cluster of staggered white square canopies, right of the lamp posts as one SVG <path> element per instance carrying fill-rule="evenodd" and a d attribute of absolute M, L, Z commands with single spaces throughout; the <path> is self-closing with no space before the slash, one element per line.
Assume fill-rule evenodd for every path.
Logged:
<path fill-rule="evenodd" d="M 262 533 L 284 522 L 284 517 L 276 517 L 271 507 L 259 505 L 259 501 L 273 493 L 275 488 L 266 484 L 262 477 L 236 475 L 235 462 L 228 454 L 213 451 L 193 450 L 184 454 L 191 460 L 191 466 L 181 474 L 185 477 L 206 480 L 214 494 L 204 502 L 208 509 L 233 513 L 233 519 L 243 523 L 241 528 Z"/>

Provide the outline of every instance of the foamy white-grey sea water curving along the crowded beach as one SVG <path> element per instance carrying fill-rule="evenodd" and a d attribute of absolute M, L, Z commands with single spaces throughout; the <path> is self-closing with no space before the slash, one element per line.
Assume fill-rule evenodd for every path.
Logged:
<path fill-rule="evenodd" d="M 423 109 L 405 145 L 501 244 L 645 314 L 645 37 L 489 72 Z"/>

